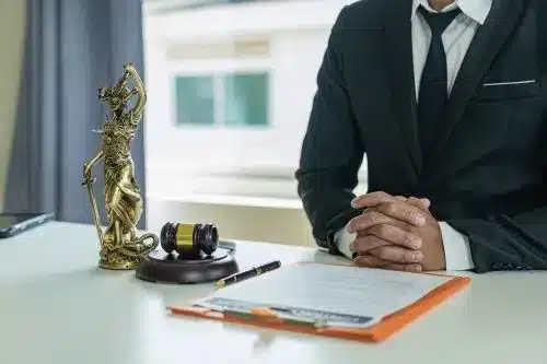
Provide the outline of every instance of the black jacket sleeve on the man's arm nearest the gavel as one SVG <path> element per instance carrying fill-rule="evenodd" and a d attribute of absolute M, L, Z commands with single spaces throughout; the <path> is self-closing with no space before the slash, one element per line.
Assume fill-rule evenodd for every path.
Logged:
<path fill-rule="evenodd" d="M 317 74 L 317 91 L 296 171 L 298 192 L 318 246 L 340 254 L 334 235 L 359 210 L 351 208 L 364 148 L 344 77 L 345 11 L 333 26 Z"/>

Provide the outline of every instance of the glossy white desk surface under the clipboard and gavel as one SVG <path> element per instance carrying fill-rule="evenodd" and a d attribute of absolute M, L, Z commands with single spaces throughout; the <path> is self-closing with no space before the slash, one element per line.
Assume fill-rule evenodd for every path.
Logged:
<path fill-rule="evenodd" d="M 49 223 L 0 240 L 0 363 L 547 363 L 547 273 L 472 284 L 383 343 L 171 317 L 213 284 L 162 285 L 97 268 L 92 226 Z M 329 261 L 309 248 L 241 242 L 240 263 Z"/>

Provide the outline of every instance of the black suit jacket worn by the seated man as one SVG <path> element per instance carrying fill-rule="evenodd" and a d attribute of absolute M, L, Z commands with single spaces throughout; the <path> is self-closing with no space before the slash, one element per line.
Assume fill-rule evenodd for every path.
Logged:
<path fill-rule="evenodd" d="M 317 244 L 339 254 L 366 153 L 369 191 L 429 198 L 477 272 L 547 268 L 547 1 L 493 1 L 424 153 L 410 4 L 358 1 L 331 30 L 295 174 Z"/>

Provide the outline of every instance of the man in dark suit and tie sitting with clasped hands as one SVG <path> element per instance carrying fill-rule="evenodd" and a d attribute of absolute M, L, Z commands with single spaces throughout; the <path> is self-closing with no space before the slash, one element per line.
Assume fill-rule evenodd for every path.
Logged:
<path fill-rule="evenodd" d="M 317 244 L 373 268 L 547 268 L 546 19 L 546 0 L 345 7 L 296 172 Z"/>

